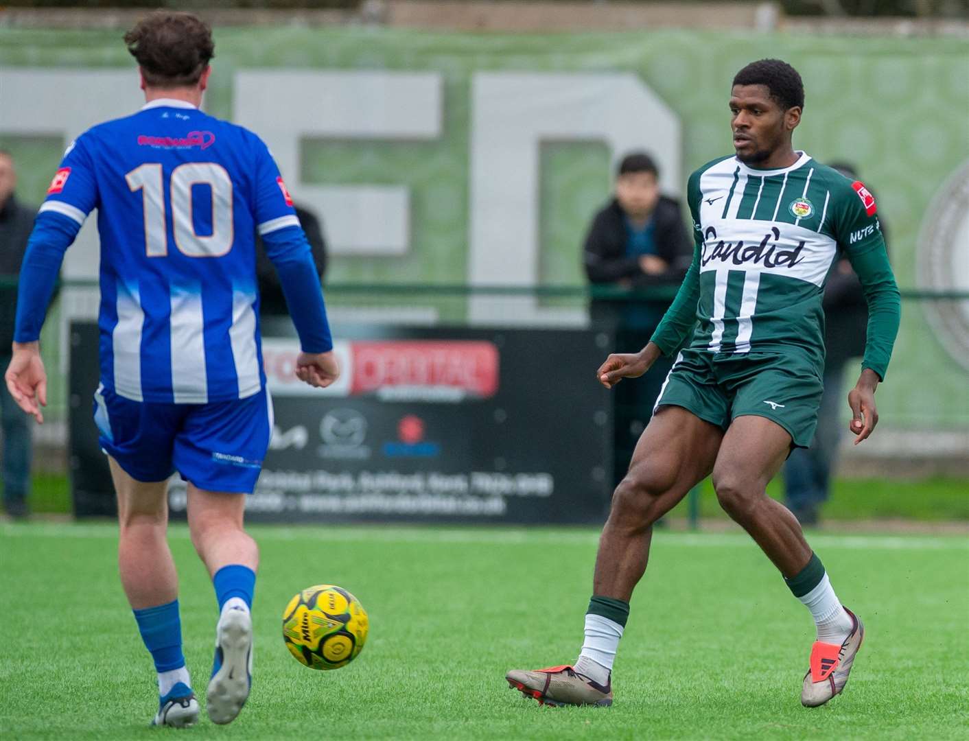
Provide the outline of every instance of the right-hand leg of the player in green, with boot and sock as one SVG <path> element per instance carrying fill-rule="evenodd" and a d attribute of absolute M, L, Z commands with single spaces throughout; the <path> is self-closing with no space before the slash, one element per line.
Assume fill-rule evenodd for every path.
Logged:
<path fill-rule="evenodd" d="M 766 495 L 766 485 L 780 470 L 791 444 L 791 433 L 770 418 L 735 417 L 713 468 L 713 486 L 723 509 L 757 541 L 814 618 L 817 641 L 801 701 L 820 705 L 847 682 L 863 628 L 838 600 L 797 518 Z"/>

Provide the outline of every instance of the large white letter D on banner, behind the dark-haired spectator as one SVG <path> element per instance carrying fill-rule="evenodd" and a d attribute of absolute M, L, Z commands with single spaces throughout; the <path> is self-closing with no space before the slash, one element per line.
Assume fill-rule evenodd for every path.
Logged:
<path fill-rule="evenodd" d="M 539 146 L 543 140 L 605 141 L 613 161 L 631 149 L 656 159 L 665 192 L 681 193 L 679 121 L 631 73 L 480 73 L 472 82 L 472 285 L 539 282 Z M 603 200 L 608 197 L 603 194 Z M 576 234 L 576 260 L 582 235 Z M 576 321 L 532 299 L 476 297 L 477 322 Z"/>

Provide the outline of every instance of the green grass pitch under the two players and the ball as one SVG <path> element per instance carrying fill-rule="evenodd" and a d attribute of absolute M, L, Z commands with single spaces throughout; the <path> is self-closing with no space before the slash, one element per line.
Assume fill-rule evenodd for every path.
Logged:
<path fill-rule="evenodd" d="M 150 730 L 154 672 L 121 592 L 109 524 L 0 525 L 0 737 L 965 738 L 969 543 L 814 535 L 838 595 L 864 620 L 844 695 L 800 706 L 813 626 L 741 533 L 658 533 L 633 598 L 611 708 L 548 708 L 503 678 L 572 662 L 597 533 L 270 528 L 255 609 L 253 693 L 231 726 Z M 215 599 L 172 527 L 185 653 L 208 678 Z M 359 658 L 330 672 L 286 651 L 281 613 L 334 583 L 371 619 Z"/>

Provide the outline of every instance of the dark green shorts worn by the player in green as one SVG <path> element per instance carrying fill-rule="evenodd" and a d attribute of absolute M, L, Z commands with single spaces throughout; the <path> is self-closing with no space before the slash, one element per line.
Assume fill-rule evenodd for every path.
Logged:
<path fill-rule="evenodd" d="M 823 388 L 818 364 L 797 351 L 724 357 L 686 349 L 673 363 L 654 412 L 683 407 L 723 430 L 735 417 L 766 417 L 790 433 L 793 445 L 807 448 Z"/>

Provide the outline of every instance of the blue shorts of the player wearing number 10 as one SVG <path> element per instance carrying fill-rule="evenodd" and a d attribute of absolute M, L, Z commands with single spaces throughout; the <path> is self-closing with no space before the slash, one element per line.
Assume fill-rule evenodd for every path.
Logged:
<path fill-rule="evenodd" d="M 101 448 L 138 481 L 164 481 L 177 471 L 206 491 L 251 493 L 272 435 L 266 388 L 244 399 L 210 404 L 157 404 L 99 386 L 94 421 Z"/>

